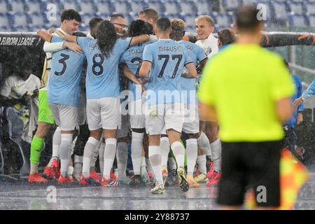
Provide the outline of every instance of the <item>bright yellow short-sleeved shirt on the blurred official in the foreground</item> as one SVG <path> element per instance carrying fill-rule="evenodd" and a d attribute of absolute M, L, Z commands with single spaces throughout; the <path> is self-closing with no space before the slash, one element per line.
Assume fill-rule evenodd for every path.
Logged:
<path fill-rule="evenodd" d="M 198 97 L 215 107 L 223 141 L 277 141 L 284 132 L 276 101 L 293 92 L 279 55 L 259 45 L 235 43 L 209 60 Z"/>

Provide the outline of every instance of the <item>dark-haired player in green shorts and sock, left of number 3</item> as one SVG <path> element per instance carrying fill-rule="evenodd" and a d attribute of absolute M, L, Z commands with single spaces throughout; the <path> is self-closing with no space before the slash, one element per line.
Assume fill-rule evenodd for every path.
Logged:
<path fill-rule="evenodd" d="M 64 36 L 66 34 L 73 34 L 78 30 L 78 25 L 81 22 L 80 15 L 73 9 L 63 10 L 61 15 L 61 22 L 59 29 L 57 29 L 52 35 Z M 52 112 L 48 106 L 47 100 L 47 83 L 50 74 L 50 64 L 52 59 L 52 52 L 62 50 L 63 48 L 76 48 L 73 43 L 48 43 L 45 42 L 43 50 L 46 52 L 45 64 L 43 67 L 43 76 L 41 80 L 41 89 L 39 90 L 39 106 L 38 106 L 38 127 L 36 134 L 31 141 L 31 170 L 29 173 L 28 181 L 30 183 L 46 183 L 47 181 L 38 174 L 38 162 L 43 149 L 44 139 L 50 126 L 55 123 Z M 57 178 L 59 163 L 57 158 L 59 156 L 59 145 L 61 141 L 61 130 L 59 127 L 55 130 L 55 134 L 52 137 L 52 158 L 48 165 L 45 167 L 44 174 L 48 177 Z"/>

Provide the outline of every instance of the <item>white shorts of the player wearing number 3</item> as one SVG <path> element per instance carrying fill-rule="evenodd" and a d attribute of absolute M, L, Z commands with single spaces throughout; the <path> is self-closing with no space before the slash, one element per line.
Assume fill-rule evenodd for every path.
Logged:
<path fill-rule="evenodd" d="M 62 131 L 72 131 L 78 127 L 78 107 L 49 103 L 52 116 Z"/>

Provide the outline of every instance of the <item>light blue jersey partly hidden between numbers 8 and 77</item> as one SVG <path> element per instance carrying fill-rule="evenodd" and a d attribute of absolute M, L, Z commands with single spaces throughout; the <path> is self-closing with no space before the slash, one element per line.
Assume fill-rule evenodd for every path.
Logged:
<path fill-rule="evenodd" d="M 130 71 L 132 71 L 132 73 L 134 73 L 134 76 L 136 76 L 138 79 L 142 56 L 144 53 L 144 47 L 156 41 L 157 40 L 151 40 L 131 46 L 123 53 L 120 58 L 120 62 L 127 64 Z M 137 88 L 137 85 L 134 84 L 132 81 L 129 82 L 129 90 L 132 92 L 132 96 L 130 96 L 131 101 L 142 98 L 141 90 L 139 90 L 139 88 Z"/>

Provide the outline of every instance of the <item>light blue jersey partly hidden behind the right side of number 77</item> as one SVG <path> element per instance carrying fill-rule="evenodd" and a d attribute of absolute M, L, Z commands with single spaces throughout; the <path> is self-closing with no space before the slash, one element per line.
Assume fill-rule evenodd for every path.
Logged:
<path fill-rule="evenodd" d="M 195 43 L 189 41 L 179 41 L 180 44 L 186 47 L 188 54 L 195 66 L 197 62 L 202 62 L 204 59 L 207 59 L 207 56 L 204 53 L 204 50 L 200 48 Z M 187 94 L 183 94 L 183 103 L 184 104 L 197 104 L 197 94 L 196 94 L 196 78 L 183 78 L 181 77 L 181 87 L 183 92 L 186 91 Z"/>

